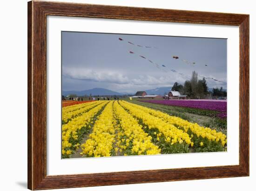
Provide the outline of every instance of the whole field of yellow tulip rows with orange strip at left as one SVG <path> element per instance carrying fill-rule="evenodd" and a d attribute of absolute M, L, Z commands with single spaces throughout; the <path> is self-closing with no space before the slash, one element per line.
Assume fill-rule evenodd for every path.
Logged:
<path fill-rule="evenodd" d="M 225 133 L 138 103 L 63 103 L 62 158 L 226 151 Z"/>

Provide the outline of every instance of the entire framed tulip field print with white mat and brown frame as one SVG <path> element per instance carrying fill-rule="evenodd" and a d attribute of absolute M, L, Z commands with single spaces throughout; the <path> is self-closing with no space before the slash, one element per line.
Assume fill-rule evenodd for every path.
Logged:
<path fill-rule="evenodd" d="M 249 176 L 249 15 L 28 2 L 28 188 Z"/>

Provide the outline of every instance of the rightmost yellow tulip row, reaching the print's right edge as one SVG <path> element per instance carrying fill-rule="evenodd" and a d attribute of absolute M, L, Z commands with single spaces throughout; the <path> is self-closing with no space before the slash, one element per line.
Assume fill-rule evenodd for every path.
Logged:
<path fill-rule="evenodd" d="M 222 132 L 216 132 L 216 130 L 212 130 L 209 127 L 202 127 L 197 123 L 191 123 L 187 120 L 184 120 L 175 116 L 170 116 L 166 113 L 156 111 L 141 105 L 132 104 L 128 102 L 126 102 L 125 104 L 130 105 L 131 107 L 136 108 L 140 111 L 146 112 L 149 115 L 153 115 L 159 119 L 162 119 L 168 124 L 173 124 L 177 127 L 181 127 L 185 132 L 191 131 L 192 133 L 196 134 L 197 137 L 201 136 L 202 138 L 207 138 L 210 141 L 216 141 L 216 142 L 221 141 L 222 146 L 224 146 L 227 143 L 227 137 L 225 134 L 223 134 Z M 190 134 L 190 137 L 191 137 L 191 134 Z"/>

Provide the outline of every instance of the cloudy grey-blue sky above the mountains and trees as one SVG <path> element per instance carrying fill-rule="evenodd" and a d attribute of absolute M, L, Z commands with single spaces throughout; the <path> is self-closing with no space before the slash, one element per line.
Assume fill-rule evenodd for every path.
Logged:
<path fill-rule="evenodd" d="M 135 46 L 128 41 L 155 48 Z M 207 79 L 209 88 L 226 88 L 223 83 L 227 77 L 226 39 L 62 32 L 61 46 L 64 91 L 97 87 L 134 93 L 172 86 L 176 81 L 183 84 L 194 70 L 200 76 L 222 81 Z M 179 59 L 173 59 L 173 56 Z M 182 59 L 195 64 L 185 63 Z"/>

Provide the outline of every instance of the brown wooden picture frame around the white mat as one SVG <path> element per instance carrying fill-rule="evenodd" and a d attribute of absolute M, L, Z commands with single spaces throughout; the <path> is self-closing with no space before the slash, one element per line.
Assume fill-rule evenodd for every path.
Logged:
<path fill-rule="evenodd" d="M 47 176 L 47 15 L 239 26 L 239 165 Z M 28 188 L 31 190 L 249 176 L 249 15 L 28 2 Z"/>

